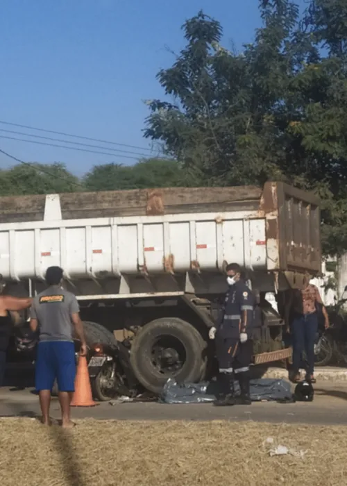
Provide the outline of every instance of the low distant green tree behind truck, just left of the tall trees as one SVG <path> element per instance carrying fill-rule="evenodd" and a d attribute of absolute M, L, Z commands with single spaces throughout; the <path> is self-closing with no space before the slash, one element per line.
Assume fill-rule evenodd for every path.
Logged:
<path fill-rule="evenodd" d="M 178 162 L 148 159 L 135 165 L 97 165 L 84 178 L 86 190 L 108 191 L 143 189 L 145 187 L 171 187 L 183 180 Z"/>

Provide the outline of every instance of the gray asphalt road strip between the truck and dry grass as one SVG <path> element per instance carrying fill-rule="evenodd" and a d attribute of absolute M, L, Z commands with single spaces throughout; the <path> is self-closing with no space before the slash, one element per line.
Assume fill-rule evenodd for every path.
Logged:
<path fill-rule="evenodd" d="M 31 387 L 0 390 L 0 416 L 35 417 L 40 414 L 38 398 Z M 51 416 L 58 419 L 60 408 L 52 400 Z M 288 424 L 347 425 L 347 383 L 322 382 L 315 385 L 312 403 L 253 403 L 217 408 L 210 403 L 166 405 L 161 403 L 100 403 L 93 408 L 74 408 L 74 419 L 111 420 L 232 420 Z"/>

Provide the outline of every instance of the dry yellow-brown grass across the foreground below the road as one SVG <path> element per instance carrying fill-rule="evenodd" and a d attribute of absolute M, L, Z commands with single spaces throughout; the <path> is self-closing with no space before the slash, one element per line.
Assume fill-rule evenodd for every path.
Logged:
<path fill-rule="evenodd" d="M 267 437 L 305 458 L 271 458 Z M 344 427 L 0 419 L 0 442 L 3 486 L 347 485 Z"/>

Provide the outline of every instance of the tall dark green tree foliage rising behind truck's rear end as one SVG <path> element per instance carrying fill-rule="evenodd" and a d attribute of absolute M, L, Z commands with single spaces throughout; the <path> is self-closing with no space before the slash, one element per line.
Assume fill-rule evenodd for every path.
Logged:
<path fill-rule="evenodd" d="M 158 73 L 145 136 L 164 143 L 201 185 L 282 180 L 323 199 L 326 253 L 347 249 L 347 2 L 260 0 L 263 25 L 241 53 L 221 47 L 203 12 L 186 47 Z M 187 184 L 191 180 L 187 177 Z"/>

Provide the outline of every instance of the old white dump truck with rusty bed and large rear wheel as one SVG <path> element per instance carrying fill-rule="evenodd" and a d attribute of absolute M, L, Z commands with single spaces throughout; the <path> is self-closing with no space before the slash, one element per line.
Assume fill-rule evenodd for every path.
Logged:
<path fill-rule="evenodd" d="M 287 358 L 286 291 L 321 271 L 311 193 L 266 183 L 0 198 L 0 274 L 10 292 L 35 295 L 46 268 L 62 267 L 87 334 L 123 341 L 137 380 L 153 392 L 169 377 L 208 373 L 208 328 L 230 262 L 246 269 L 262 308 L 255 364 Z"/>

